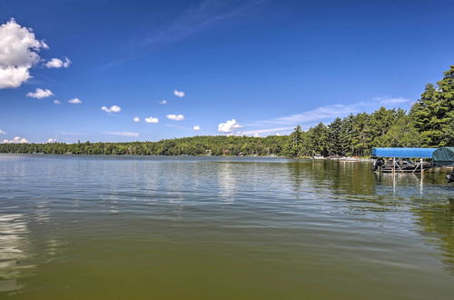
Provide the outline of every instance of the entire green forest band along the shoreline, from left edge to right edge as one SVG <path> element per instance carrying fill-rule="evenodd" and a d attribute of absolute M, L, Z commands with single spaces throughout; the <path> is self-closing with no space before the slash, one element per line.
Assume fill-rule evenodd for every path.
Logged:
<path fill-rule="evenodd" d="M 74 155 L 370 155 L 373 147 L 454 145 L 454 65 L 410 112 L 380 107 L 286 136 L 193 136 L 159 142 L 0 144 L 0 153 Z"/>

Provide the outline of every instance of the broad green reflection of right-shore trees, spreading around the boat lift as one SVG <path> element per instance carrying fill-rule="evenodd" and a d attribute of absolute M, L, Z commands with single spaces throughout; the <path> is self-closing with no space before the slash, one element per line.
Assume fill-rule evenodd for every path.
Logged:
<path fill-rule="evenodd" d="M 417 216 L 416 225 L 426 243 L 439 247 L 440 260 L 454 275 L 453 187 L 447 186 L 443 174 L 425 174 L 421 190 L 420 175 L 376 174 L 370 171 L 369 164 L 306 161 L 287 165 L 291 184 L 298 192 L 310 185 L 323 185 L 331 190 L 324 194 L 327 199 L 339 195 L 354 210 L 395 212 L 395 206 L 404 206 L 404 211 Z"/>

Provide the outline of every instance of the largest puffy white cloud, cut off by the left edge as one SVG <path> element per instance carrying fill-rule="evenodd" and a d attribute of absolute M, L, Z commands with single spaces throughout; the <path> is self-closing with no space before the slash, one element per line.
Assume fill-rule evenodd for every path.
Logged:
<path fill-rule="evenodd" d="M 0 25 L 0 89 L 18 87 L 31 78 L 29 71 L 40 61 L 41 48 L 49 46 L 15 19 Z"/>

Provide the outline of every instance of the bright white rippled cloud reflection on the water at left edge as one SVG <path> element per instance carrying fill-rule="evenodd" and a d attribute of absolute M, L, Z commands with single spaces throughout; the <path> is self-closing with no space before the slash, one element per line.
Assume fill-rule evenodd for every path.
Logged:
<path fill-rule="evenodd" d="M 21 289 L 17 280 L 35 267 L 26 264 L 30 258 L 28 233 L 24 215 L 0 215 L 0 292 Z"/>

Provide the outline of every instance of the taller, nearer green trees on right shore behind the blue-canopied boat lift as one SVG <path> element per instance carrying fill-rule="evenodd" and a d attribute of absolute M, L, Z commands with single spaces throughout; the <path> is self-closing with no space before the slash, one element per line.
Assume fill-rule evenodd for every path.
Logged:
<path fill-rule="evenodd" d="M 297 126 L 284 155 L 370 155 L 373 147 L 454 145 L 454 65 L 437 85 L 428 84 L 407 113 L 380 107 L 371 114 L 336 118 L 308 131 Z"/>

